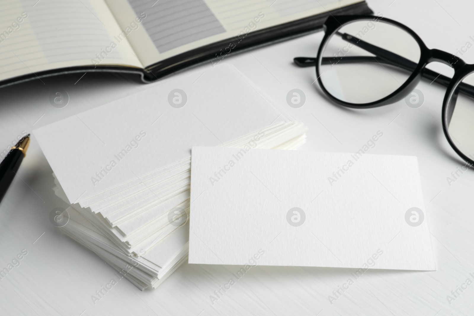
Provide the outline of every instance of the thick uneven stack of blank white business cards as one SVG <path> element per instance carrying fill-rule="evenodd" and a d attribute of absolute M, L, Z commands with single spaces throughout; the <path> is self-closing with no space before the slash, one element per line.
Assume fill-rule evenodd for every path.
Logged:
<path fill-rule="evenodd" d="M 71 205 L 57 226 L 146 289 L 187 260 L 192 146 L 240 148 L 240 155 L 292 150 L 305 131 L 234 67 L 221 65 L 34 135 L 53 169 L 55 194 Z M 215 172 L 219 181 L 225 170 Z"/>

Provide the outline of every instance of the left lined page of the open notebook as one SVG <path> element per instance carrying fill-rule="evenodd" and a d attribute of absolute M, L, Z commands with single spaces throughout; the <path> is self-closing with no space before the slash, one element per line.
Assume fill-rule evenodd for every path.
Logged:
<path fill-rule="evenodd" d="M 2 0 L 1 7 L 0 80 L 95 63 L 141 67 L 127 40 L 113 38 L 121 30 L 101 0 Z"/>

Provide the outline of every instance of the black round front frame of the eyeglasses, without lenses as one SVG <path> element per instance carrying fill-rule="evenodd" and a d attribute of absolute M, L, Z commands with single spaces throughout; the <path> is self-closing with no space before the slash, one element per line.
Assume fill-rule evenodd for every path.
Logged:
<path fill-rule="evenodd" d="M 349 102 L 337 99 L 331 93 L 329 93 L 328 90 L 326 90 L 326 88 L 324 87 L 324 84 L 321 81 L 321 73 L 319 70 L 319 65 L 321 64 L 322 52 L 324 51 L 324 48 L 326 47 L 328 43 L 328 39 L 331 38 L 331 36 L 333 36 L 337 32 L 338 29 L 343 27 L 345 24 L 348 24 L 349 22 L 354 22 L 357 20 L 368 20 L 368 19 L 374 20 L 374 21 L 378 19 L 385 23 L 390 23 L 396 27 L 400 27 L 401 29 L 409 33 L 419 45 L 419 48 L 420 48 L 419 62 L 415 70 L 411 73 L 410 77 L 397 90 L 393 91 L 391 94 L 384 97 L 383 99 L 379 99 L 377 101 L 370 102 L 370 103 L 362 103 L 362 104 L 349 103 Z M 447 53 L 445 51 L 442 51 L 439 49 L 429 49 L 425 45 L 425 43 L 423 43 L 421 38 L 413 30 L 411 30 L 409 27 L 397 21 L 394 21 L 388 18 L 380 18 L 380 17 L 376 17 L 372 15 L 330 16 L 328 17 L 326 22 L 324 22 L 323 28 L 325 31 L 325 35 L 321 41 L 321 44 L 319 45 L 318 55 L 316 57 L 316 76 L 318 78 L 317 80 L 319 83 L 319 87 L 321 88 L 321 90 L 324 91 L 324 93 L 332 101 L 348 108 L 375 108 L 375 107 L 380 107 L 387 104 L 392 104 L 401 99 L 404 99 L 417 86 L 417 84 L 421 80 L 423 71 L 426 70 L 425 67 L 428 63 L 439 62 L 439 63 L 444 63 L 454 68 L 454 75 L 450 79 L 450 81 L 447 81 L 446 79 L 449 80 L 449 78 L 445 77 L 445 82 L 443 82 L 444 85 L 447 84 L 447 90 L 446 90 L 446 94 L 443 100 L 443 106 L 441 109 L 441 121 L 442 121 L 442 126 L 443 126 L 443 132 L 444 132 L 444 135 L 446 136 L 448 143 L 451 145 L 453 150 L 461 158 L 463 158 L 467 163 L 474 165 L 474 161 L 470 159 L 469 157 L 467 157 L 465 153 L 463 153 L 461 150 L 457 148 L 456 144 L 454 144 L 453 140 L 451 139 L 451 136 L 449 135 L 447 131 L 449 122 L 453 115 L 454 108 L 456 106 L 456 97 L 458 93 L 456 88 L 459 86 L 461 81 L 467 75 L 474 72 L 474 64 L 467 64 L 461 58 L 458 58 L 455 55 Z M 295 58 L 295 63 L 297 62 L 296 59 L 297 58 Z M 301 64 L 299 65 L 303 66 Z"/>

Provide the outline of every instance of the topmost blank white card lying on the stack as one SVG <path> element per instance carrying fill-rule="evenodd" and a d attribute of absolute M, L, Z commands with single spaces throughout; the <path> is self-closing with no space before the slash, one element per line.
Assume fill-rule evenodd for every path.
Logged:
<path fill-rule="evenodd" d="M 71 203 L 287 122 L 228 64 L 194 72 L 40 127 L 34 135 Z M 59 148 L 59 149 L 58 149 Z"/>

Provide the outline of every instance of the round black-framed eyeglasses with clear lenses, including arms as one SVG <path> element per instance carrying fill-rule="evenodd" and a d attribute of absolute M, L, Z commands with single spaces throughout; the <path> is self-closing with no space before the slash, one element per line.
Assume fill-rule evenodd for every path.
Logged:
<path fill-rule="evenodd" d="M 316 65 L 321 89 L 349 108 L 374 108 L 410 95 L 426 78 L 447 91 L 441 121 L 454 151 L 474 164 L 474 65 L 438 49 L 428 49 L 401 23 L 377 16 L 331 16 L 318 55 L 296 57 L 300 67 Z M 454 68 L 449 78 L 426 68 L 440 62 Z M 417 98 L 414 94 L 412 98 Z"/>

